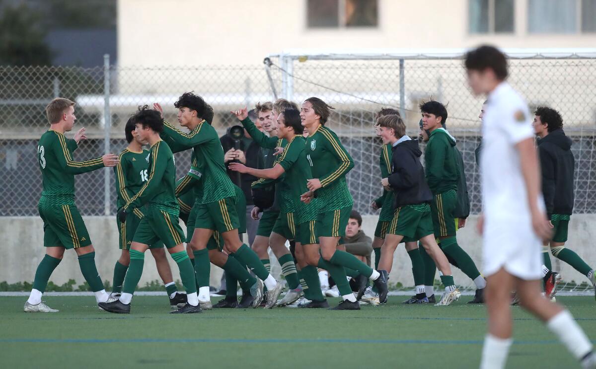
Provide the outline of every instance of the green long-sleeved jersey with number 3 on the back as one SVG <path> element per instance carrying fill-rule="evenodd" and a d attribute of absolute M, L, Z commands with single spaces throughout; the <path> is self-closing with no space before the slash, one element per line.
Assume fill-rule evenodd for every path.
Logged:
<path fill-rule="evenodd" d="M 51 129 L 39 139 L 38 162 L 43 182 L 40 202 L 74 205 L 75 175 L 104 167 L 101 157 L 83 162 L 73 160 L 72 152 L 76 148 L 75 140 Z"/>

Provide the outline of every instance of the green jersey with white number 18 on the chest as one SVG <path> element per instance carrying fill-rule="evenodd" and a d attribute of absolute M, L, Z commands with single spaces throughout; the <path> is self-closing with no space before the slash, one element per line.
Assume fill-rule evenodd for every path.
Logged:
<path fill-rule="evenodd" d="M 148 179 L 149 150 L 140 153 L 125 148 L 118 156 L 118 164 L 114 167 L 116 177 L 117 206 L 125 206 L 128 201 L 141 190 Z M 142 212 L 135 209 L 135 214 L 142 218 Z"/>

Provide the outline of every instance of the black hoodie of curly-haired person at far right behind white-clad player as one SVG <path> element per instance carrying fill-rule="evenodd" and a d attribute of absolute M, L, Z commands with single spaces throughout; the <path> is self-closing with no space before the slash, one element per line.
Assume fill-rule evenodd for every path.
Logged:
<path fill-rule="evenodd" d="M 573 169 L 575 159 L 572 141 L 563 129 L 555 129 L 538 139 L 542 170 L 542 194 L 548 218 L 552 214 L 571 215 L 573 211 Z"/>

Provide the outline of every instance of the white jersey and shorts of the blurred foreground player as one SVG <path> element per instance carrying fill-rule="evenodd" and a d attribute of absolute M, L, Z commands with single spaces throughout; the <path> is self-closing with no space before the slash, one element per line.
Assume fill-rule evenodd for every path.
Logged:
<path fill-rule="evenodd" d="M 522 97 L 507 82 L 489 94 L 482 135 L 483 271 L 491 275 L 504 267 L 516 277 L 538 279 L 542 276 L 542 243 L 532 228 L 515 147 L 533 137 L 532 118 Z"/>

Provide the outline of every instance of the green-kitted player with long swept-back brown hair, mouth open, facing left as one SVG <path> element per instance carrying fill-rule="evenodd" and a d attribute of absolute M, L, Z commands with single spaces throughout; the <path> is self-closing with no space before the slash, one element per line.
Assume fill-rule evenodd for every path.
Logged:
<path fill-rule="evenodd" d="M 344 268 L 350 270 L 350 275 L 358 281 L 358 298 L 362 297 L 366 288 L 367 278 L 375 281 L 379 293 L 387 293 L 387 280 L 375 269 L 355 256 L 337 249 L 337 243 L 346 232 L 347 221 L 352 211 L 352 195 L 347 189 L 346 173 L 354 167 L 350 154 L 347 153 L 335 132 L 325 127 L 331 109 L 319 98 L 311 97 L 304 101 L 300 108 L 302 125 L 308 129 L 306 138 L 306 159 L 312 166 L 313 178 L 308 180 L 308 192 L 302 196 L 302 201 L 309 201 L 316 196 L 319 200 L 319 215 L 316 221 L 316 235 L 321 245 L 322 259 L 338 266 L 338 271 Z M 310 265 L 318 262 L 318 249 L 305 248 L 306 259 Z M 327 268 L 324 268 L 327 269 Z M 328 270 L 328 269 L 327 269 Z M 340 275 L 333 275 L 338 283 L 337 288 L 343 297 L 338 309 L 359 309 L 352 289 L 345 287 Z M 343 287 L 343 290 L 342 290 Z"/>

